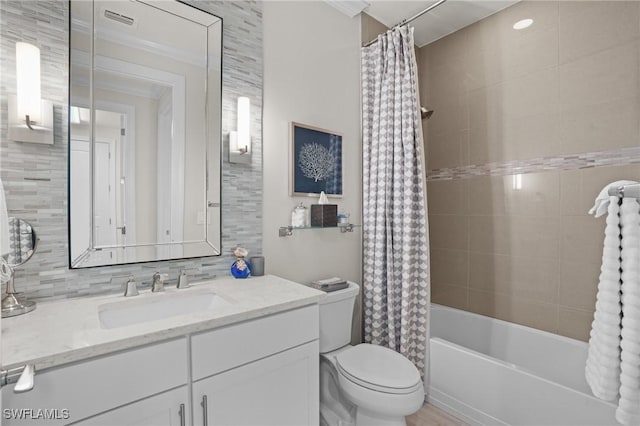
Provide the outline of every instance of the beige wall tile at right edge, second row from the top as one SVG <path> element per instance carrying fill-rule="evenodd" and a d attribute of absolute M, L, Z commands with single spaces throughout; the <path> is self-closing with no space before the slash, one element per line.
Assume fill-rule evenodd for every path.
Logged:
<path fill-rule="evenodd" d="M 560 65 L 562 110 L 635 97 L 638 54 L 638 41 L 633 41 Z"/>

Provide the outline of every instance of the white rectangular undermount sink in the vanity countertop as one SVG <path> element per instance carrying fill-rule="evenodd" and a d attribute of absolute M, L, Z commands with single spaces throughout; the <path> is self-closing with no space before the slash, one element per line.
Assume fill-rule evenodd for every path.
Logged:
<path fill-rule="evenodd" d="M 194 314 L 229 306 L 231 303 L 215 293 L 160 293 L 144 300 L 106 303 L 98 307 L 100 326 L 105 329 Z"/>

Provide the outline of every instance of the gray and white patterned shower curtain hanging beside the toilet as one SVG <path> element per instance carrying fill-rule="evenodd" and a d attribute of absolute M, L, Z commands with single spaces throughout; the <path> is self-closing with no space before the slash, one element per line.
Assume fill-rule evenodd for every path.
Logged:
<path fill-rule="evenodd" d="M 364 340 L 424 374 L 429 246 L 413 28 L 362 49 Z"/>

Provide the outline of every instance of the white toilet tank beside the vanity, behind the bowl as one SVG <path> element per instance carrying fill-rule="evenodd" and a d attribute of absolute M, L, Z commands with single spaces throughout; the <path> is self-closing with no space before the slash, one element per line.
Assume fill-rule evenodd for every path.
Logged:
<path fill-rule="evenodd" d="M 331 352 L 351 343 L 353 305 L 360 287 L 349 287 L 327 293 L 320 303 L 320 353 Z"/>

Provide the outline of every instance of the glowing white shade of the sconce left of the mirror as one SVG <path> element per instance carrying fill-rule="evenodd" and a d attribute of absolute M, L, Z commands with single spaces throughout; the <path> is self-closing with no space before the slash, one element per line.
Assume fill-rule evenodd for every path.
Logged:
<path fill-rule="evenodd" d="M 39 124 L 40 115 L 40 49 L 29 43 L 16 43 L 16 90 L 18 117 L 28 116 Z"/>

